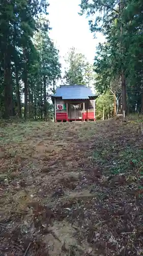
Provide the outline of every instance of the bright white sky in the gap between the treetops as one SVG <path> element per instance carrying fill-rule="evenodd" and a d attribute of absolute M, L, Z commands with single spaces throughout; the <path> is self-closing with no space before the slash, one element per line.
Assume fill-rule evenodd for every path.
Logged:
<path fill-rule="evenodd" d="M 99 34 L 94 39 L 88 19 L 85 16 L 79 16 L 80 2 L 81 0 L 49 0 L 48 18 L 52 27 L 50 36 L 60 50 L 63 69 L 64 56 L 71 47 L 75 47 L 90 63 L 93 63 L 96 46 L 99 41 L 104 40 Z"/>

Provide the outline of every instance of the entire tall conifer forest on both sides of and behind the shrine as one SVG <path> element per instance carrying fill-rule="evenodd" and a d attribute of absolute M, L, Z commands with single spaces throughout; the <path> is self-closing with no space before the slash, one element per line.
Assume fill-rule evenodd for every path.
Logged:
<path fill-rule="evenodd" d="M 99 119 L 113 112 L 142 114 L 142 1 L 81 0 L 79 15 L 86 14 L 93 35 L 100 32 L 105 41 L 96 48 L 93 66 L 70 49 L 63 77 L 49 35 L 48 6 L 47 0 L 0 1 L 0 118 L 50 120 L 49 99 L 59 79 L 92 84 L 100 95 Z"/>

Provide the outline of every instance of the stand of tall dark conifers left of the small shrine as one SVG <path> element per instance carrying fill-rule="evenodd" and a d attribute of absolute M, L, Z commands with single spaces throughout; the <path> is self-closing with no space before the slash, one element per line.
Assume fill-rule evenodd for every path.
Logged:
<path fill-rule="evenodd" d="M 48 98 L 61 74 L 47 0 L 1 0 L 0 9 L 0 116 L 47 119 Z"/>

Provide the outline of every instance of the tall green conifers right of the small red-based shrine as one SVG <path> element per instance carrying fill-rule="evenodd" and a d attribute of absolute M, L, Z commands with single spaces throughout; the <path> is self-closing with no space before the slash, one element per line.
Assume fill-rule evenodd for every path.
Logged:
<path fill-rule="evenodd" d="M 110 91 L 120 111 L 142 114 L 142 1 L 82 0 L 80 7 L 91 32 L 105 36 L 95 55 L 96 89 Z"/>

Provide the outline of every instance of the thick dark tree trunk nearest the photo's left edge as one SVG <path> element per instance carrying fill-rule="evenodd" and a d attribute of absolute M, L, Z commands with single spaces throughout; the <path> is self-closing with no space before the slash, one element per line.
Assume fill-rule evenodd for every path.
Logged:
<path fill-rule="evenodd" d="M 10 54 L 4 53 L 4 98 L 5 98 L 5 118 L 13 116 L 13 92 L 11 84 L 11 60 Z"/>

